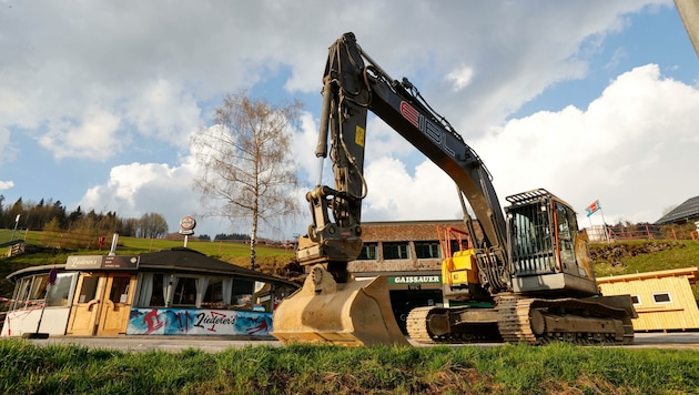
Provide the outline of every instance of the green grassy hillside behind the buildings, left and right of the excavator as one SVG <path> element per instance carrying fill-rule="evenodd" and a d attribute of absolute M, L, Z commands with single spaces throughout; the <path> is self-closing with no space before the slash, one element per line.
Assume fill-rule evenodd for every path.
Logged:
<path fill-rule="evenodd" d="M 8 232 L 0 231 L 0 232 Z M 7 236 L 7 237 L 6 237 Z M 29 243 L 45 245 L 49 236 L 42 232 L 23 233 Z M 55 239 L 55 236 L 51 236 Z M 0 234 L 0 241 L 9 240 L 9 234 Z M 42 244 L 42 241 L 44 243 Z M 55 240 L 51 240 L 55 243 Z M 154 252 L 162 249 L 171 249 L 183 245 L 183 241 L 162 239 L 135 239 L 120 237 L 116 253 L 120 255 L 135 255 Z M 57 244 L 53 244 L 57 245 Z M 200 242 L 190 241 L 188 247 L 196 250 L 203 254 L 230 262 L 243 267 L 250 266 L 250 245 L 241 242 Z M 0 296 L 12 294 L 13 284 L 4 277 L 13 271 L 30 265 L 62 264 L 69 255 L 101 255 L 107 254 L 108 245 L 102 250 L 92 249 L 57 249 L 57 247 L 33 247 L 31 253 L 13 257 L 4 257 L 6 249 L 0 253 Z M 598 277 L 644 273 L 670 269 L 699 266 L 699 242 L 691 240 L 681 241 L 627 241 L 615 243 L 590 244 L 592 266 Z M 278 275 L 300 282 L 301 267 L 294 263 L 293 249 L 284 246 L 259 245 L 256 250 L 256 262 L 259 270 L 266 274 Z M 695 297 L 699 300 L 699 286 L 693 285 Z"/>

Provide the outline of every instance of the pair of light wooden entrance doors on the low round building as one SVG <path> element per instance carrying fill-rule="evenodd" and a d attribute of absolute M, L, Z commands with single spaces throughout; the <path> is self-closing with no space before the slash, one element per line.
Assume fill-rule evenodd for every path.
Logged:
<path fill-rule="evenodd" d="M 73 336 L 116 335 L 126 332 L 135 275 L 81 273 L 68 324 Z"/>

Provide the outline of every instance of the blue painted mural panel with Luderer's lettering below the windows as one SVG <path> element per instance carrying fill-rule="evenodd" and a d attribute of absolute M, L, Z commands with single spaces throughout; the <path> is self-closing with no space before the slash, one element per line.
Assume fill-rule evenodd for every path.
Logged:
<path fill-rule="evenodd" d="M 129 335 L 270 336 L 272 313 L 202 308 L 132 308 Z"/>

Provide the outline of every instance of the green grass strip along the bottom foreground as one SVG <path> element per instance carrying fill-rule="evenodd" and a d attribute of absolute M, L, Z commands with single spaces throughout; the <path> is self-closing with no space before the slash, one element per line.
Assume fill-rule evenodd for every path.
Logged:
<path fill-rule="evenodd" d="M 22 394 L 685 394 L 696 351 L 502 345 L 293 345 L 128 353 L 0 341 L 0 392 Z"/>

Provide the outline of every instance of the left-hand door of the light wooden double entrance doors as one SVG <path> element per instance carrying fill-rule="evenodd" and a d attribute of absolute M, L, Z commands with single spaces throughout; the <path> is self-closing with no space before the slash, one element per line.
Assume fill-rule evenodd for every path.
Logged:
<path fill-rule="evenodd" d="M 68 323 L 69 335 L 94 335 L 104 294 L 104 283 L 105 278 L 101 274 L 80 274 Z"/>

